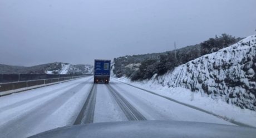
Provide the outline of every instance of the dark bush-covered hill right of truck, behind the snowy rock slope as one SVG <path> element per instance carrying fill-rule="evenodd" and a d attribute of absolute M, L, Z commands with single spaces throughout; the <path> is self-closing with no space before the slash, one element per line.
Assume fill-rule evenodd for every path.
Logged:
<path fill-rule="evenodd" d="M 202 55 L 217 52 L 242 39 L 224 33 L 200 44 L 189 45 L 172 51 L 126 55 L 114 59 L 113 73 L 117 78 L 125 76 L 131 80 L 150 79 L 154 74 L 163 75 L 181 64 L 199 58 Z"/>

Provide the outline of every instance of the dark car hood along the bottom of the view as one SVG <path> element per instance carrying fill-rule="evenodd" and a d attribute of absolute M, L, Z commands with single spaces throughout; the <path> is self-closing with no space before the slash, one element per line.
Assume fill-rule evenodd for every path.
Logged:
<path fill-rule="evenodd" d="M 61 127 L 32 137 L 255 137 L 249 127 L 186 121 L 122 121 Z"/>

